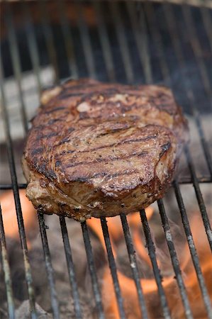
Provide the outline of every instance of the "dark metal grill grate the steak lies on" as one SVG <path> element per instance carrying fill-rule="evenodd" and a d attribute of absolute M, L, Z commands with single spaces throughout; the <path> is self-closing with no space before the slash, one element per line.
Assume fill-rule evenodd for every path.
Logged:
<path fill-rule="evenodd" d="M 158 82 L 158 76 L 155 76 L 154 59 L 156 59 L 157 67 L 160 69 L 161 82 L 168 84 L 172 87 L 173 91 L 176 90 L 174 84 L 174 79 L 172 77 L 172 65 L 170 65 L 169 52 L 167 50 L 168 41 L 172 46 L 172 52 L 174 54 L 174 61 L 177 62 L 177 69 L 179 69 L 180 76 L 183 81 L 183 94 L 186 96 L 186 107 L 187 111 L 191 113 L 196 123 L 196 128 L 199 132 L 199 137 L 203 149 L 203 155 L 206 159 L 206 164 L 208 166 L 209 176 L 197 177 L 194 162 L 191 155 L 190 147 L 186 147 L 185 154 L 186 160 L 189 167 L 189 172 L 191 177 L 181 178 L 174 181 L 173 187 L 177 198 L 177 203 L 179 207 L 179 213 L 182 218 L 182 225 L 184 227 L 184 232 L 186 235 L 186 240 L 189 245 L 189 250 L 191 253 L 191 258 L 196 270 L 196 276 L 199 281 L 199 287 L 201 289 L 201 295 L 203 298 L 203 303 L 206 307 L 206 313 L 208 318 L 212 318 L 211 301 L 208 296 L 208 291 L 206 289 L 205 281 L 202 274 L 201 265 L 199 263 L 199 257 L 196 252 L 196 247 L 194 244 L 194 239 L 191 234 L 191 229 L 189 225 L 189 219 L 186 214 L 186 209 L 184 207 L 184 201 L 182 198 L 180 184 L 192 183 L 194 185 L 194 190 L 196 193 L 196 198 L 199 203 L 199 211 L 203 220 L 203 225 L 206 230 L 206 235 L 208 237 L 208 243 L 212 250 L 212 231 L 211 225 L 208 219 L 208 214 L 206 212 L 206 206 L 203 201 L 203 196 L 201 194 L 201 189 L 199 183 L 209 183 L 212 181 L 212 165 L 211 165 L 211 154 L 208 149 L 208 143 L 204 135 L 203 124 L 201 121 L 201 114 L 199 106 L 199 96 L 197 96 L 195 88 L 190 81 L 189 77 L 185 77 L 184 69 L 186 68 L 186 50 L 185 46 L 188 45 L 189 58 L 194 61 L 195 71 L 197 77 L 199 78 L 199 86 L 201 88 L 202 96 L 206 96 L 206 108 L 211 108 L 211 83 L 212 79 L 210 77 L 209 71 L 206 67 L 206 62 L 203 57 L 203 50 L 201 48 L 201 39 L 197 33 L 196 25 L 194 22 L 195 14 L 201 14 L 201 21 L 203 21 L 203 30 L 206 33 L 206 38 L 208 39 L 209 45 L 212 43 L 210 26 L 211 26 L 211 11 L 209 9 L 191 9 L 189 6 L 174 6 L 168 4 L 153 5 L 153 4 L 140 4 L 134 2 L 126 2 L 125 4 L 119 3 L 109 3 L 103 4 L 99 1 L 88 3 L 91 8 L 94 8 L 94 16 L 96 19 L 96 32 L 99 35 L 99 43 L 101 45 L 101 59 L 104 61 L 104 65 L 101 68 L 101 74 L 97 65 L 99 61 L 95 59 L 94 56 L 94 43 L 92 43 L 91 28 L 87 23 L 87 18 L 84 15 L 84 10 L 82 10 L 83 4 L 75 4 L 71 2 L 67 5 L 65 1 L 54 1 L 54 5 L 59 12 L 59 21 L 61 27 L 62 39 L 61 43 L 65 43 L 65 60 L 68 65 L 69 76 L 80 77 L 82 75 L 94 77 L 97 79 L 102 79 L 109 81 L 122 81 L 136 83 L 138 82 L 138 76 L 140 70 L 142 74 L 140 78 L 143 79 L 145 83 Z M 13 5 L 6 1 L 6 3 L 1 4 L 5 12 L 5 28 L 8 34 L 9 40 L 9 55 L 11 56 L 11 62 L 13 66 L 13 76 L 16 79 L 16 84 L 18 86 L 18 101 L 20 103 L 20 110 L 23 121 L 23 128 L 25 132 L 28 130 L 28 121 L 26 114 L 26 103 L 23 99 L 23 86 L 22 86 L 22 66 L 20 58 L 20 48 L 18 47 L 17 33 L 14 28 L 13 20 Z M 26 31 L 26 40 L 28 43 L 29 55 L 32 64 L 32 69 L 37 80 L 38 92 L 42 87 L 42 82 L 40 79 L 40 57 L 39 57 L 39 44 L 36 39 L 35 26 L 33 26 L 33 19 L 31 17 L 32 11 L 30 10 L 30 4 L 27 1 L 23 1 L 21 6 L 21 14 L 23 14 L 24 30 Z M 35 4 L 38 7 L 38 12 L 42 16 L 42 30 L 46 45 L 46 54 L 50 60 L 50 65 L 53 66 L 55 72 L 55 82 L 59 82 L 62 78 L 62 67 L 60 60 L 58 58 L 58 52 L 55 45 L 55 35 L 53 33 L 51 18 L 48 12 L 48 1 L 38 1 Z M 69 18 L 67 16 L 67 8 L 69 6 L 74 6 L 74 12 L 77 12 L 77 24 L 74 28 L 77 28 L 77 34 L 79 34 L 79 42 L 82 44 L 82 52 L 79 52 L 80 56 L 83 53 L 84 62 L 82 66 L 79 65 L 79 60 L 77 59 L 77 54 L 74 52 L 73 47 L 76 42 L 76 34 L 73 31 L 73 23 L 69 23 Z M 116 45 L 111 43 L 111 38 L 109 36 L 108 30 L 108 19 L 106 19 L 106 14 L 104 11 L 109 13 L 111 16 L 112 32 L 116 35 Z M 195 11 L 194 11 L 195 10 Z M 159 13 L 158 13 L 159 12 Z M 42 14 L 41 14 L 42 13 Z M 128 14 L 130 26 L 128 22 L 126 23 L 125 14 Z M 161 22 L 161 16 L 164 17 L 164 21 Z M 179 27 L 179 19 L 177 14 L 182 16 L 183 23 L 185 23 L 186 30 L 182 33 Z M 110 20 L 110 19 L 109 19 Z M 164 35 L 163 28 L 164 23 L 167 28 L 167 33 Z M 131 30 L 131 36 L 128 37 L 128 30 Z M 142 37 L 142 38 L 141 38 Z M 167 37 L 167 38 L 166 38 Z M 74 40 L 75 39 L 75 40 Z M 74 42 L 75 41 L 75 42 Z M 135 70 L 133 65 L 132 50 L 130 43 L 133 42 L 133 50 L 136 51 L 138 56 L 139 67 L 138 72 Z M 150 47 L 154 45 L 156 50 L 156 57 L 152 58 L 152 53 L 150 53 Z M 170 50 L 170 47 L 168 47 Z M 115 52 L 116 51 L 116 52 Z M 212 45 L 210 51 L 210 58 L 212 52 Z M 135 53 L 135 52 L 134 52 Z M 133 53 L 133 54 L 134 54 Z M 118 62 L 117 60 L 121 62 Z M 4 59 L 4 57 L 2 57 Z M 114 62 L 116 61 L 116 62 Z M 3 61 L 4 62 L 4 61 Z M 211 60 L 209 61 L 211 63 Z M 2 61 L 1 61 L 2 64 Z M 116 68 L 116 65 L 123 66 Z M 86 67 L 87 72 L 82 72 L 82 68 Z M 211 65 L 210 65 L 211 67 Z M 21 202 L 18 194 L 18 189 L 26 188 L 26 184 L 18 184 L 16 176 L 16 165 L 14 162 L 13 155 L 13 143 L 15 141 L 11 138 L 11 131 L 9 125 L 9 114 L 8 114 L 8 103 L 5 97 L 4 82 L 6 81 L 5 67 L 1 67 L 1 80 L 3 85 L 1 86 L 1 106 L 4 115 L 4 128 L 6 134 L 6 146 L 9 159 L 9 169 L 11 172 L 11 184 L 1 184 L 0 189 L 13 189 L 13 195 L 16 203 L 16 214 L 18 220 L 18 229 L 21 240 L 21 247 L 23 250 L 23 260 L 24 267 L 26 271 L 26 283 L 28 288 L 28 299 L 30 301 L 31 318 L 38 318 L 38 314 L 35 310 L 35 293 L 33 291 L 33 279 L 30 269 L 30 262 L 28 258 L 28 247 L 26 242 L 26 233 L 24 229 L 23 216 L 21 211 Z M 104 73 L 102 75 L 102 73 Z M 179 266 L 179 259 L 174 247 L 174 240 L 172 239 L 172 233 L 169 226 L 169 221 L 167 218 L 167 213 L 164 209 L 164 203 L 162 200 L 158 201 L 158 207 L 160 211 L 160 218 L 162 222 L 162 227 L 164 229 L 164 235 L 167 241 L 167 246 L 169 248 L 169 254 L 172 260 L 172 266 L 177 279 L 177 285 L 179 288 L 179 293 L 182 298 L 182 303 L 184 305 L 184 314 L 186 318 L 193 318 L 191 313 L 191 308 L 189 306 L 189 299 L 186 293 L 186 288 L 184 286 L 184 279 Z M 125 237 L 125 245 L 128 250 L 128 257 L 130 262 L 130 267 L 132 270 L 133 280 L 135 281 L 135 287 L 138 293 L 138 301 L 140 305 L 140 312 L 142 313 L 142 318 L 150 318 L 147 306 L 145 303 L 145 296 L 143 293 L 143 287 L 140 285 L 140 279 L 138 275 L 138 264 L 133 247 L 133 241 L 130 235 L 130 229 L 128 225 L 128 220 L 126 216 L 121 214 L 121 223 L 123 227 L 123 235 Z M 152 269 L 155 275 L 155 281 L 157 283 L 157 289 L 160 296 L 160 303 L 162 307 L 162 313 L 164 318 L 171 318 L 171 313 L 168 307 L 167 298 L 164 293 L 164 288 L 162 286 L 162 277 L 160 275 L 160 268 L 157 264 L 156 253 L 155 253 L 155 243 L 152 240 L 152 235 L 150 232 L 150 227 L 147 221 L 147 216 L 145 211 L 140 211 L 140 219 L 143 225 L 143 231 L 145 234 L 145 240 L 147 243 L 147 250 L 150 255 L 150 260 L 152 263 Z M 52 305 L 52 314 L 54 318 L 60 318 L 60 307 L 57 301 L 57 291 L 55 289 L 55 279 L 54 270 L 51 262 L 50 249 L 48 247 L 48 237 L 46 234 L 45 218 L 42 214 L 38 213 L 38 222 L 40 225 L 40 234 L 43 242 L 43 252 L 45 257 L 45 267 L 48 275 L 48 284 L 50 288 L 50 298 Z M 74 261 L 72 259 L 72 250 L 69 243 L 69 236 L 67 233 L 67 226 L 65 218 L 60 218 L 60 227 L 62 232 L 62 240 L 65 247 L 65 256 L 67 259 L 67 269 L 69 274 L 70 285 L 72 286 L 72 294 L 74 301 L 74 310 L 76 318 L 82 318 L 82 309 L 79 302 L 79 293 L 77 288 L 77 279 L 74 272 Z M 123 308 L 123 297 L 121 294 L 120 284 L 118 282 L 117 267 L 113 256 L 113 251 L 111 247 L 110 235 L 108 232 L 108 227 L 106 224 L 106 218 L 101 218 L 101 228 L 104 235 L 106 252 L 108 255 L 108 264 L 111 269 L 111 276 L 113 279 L 114 290 L 116 292 L 116 299 L 118 303 L 118 311 L 120 318 L 126 318 L 125 311 Z M 4 269 L 4 279 L 6 284 L 6 296 L 8 301 L 8 313 L 9 318 L 15 318 L 15 306 L 13 300 L 13 290 L 11 284 L 11 274 L 9 268 L 9 261 L 6 251 L 6 240 L 4 234 L 4 225 L 2 220 L 2 214 L 0 212 L 0 233 L 1 233 L 1 260 Z M 94 255 L 92 252 L 89 230 L 87 228 L 87 223 L 82 223 L 82 235 L 84 238 L 84 246 L 87 253 L 87 262 L 89 267 L 89 273 L 91 276 L 91 284 L 94 292 L 94 298 L 96 301 L 96 310 L 99 313 L 99 318 L 105 318 L 104 315 L 104 305 L 101 299 L 101 290 L 99 287 L 99 281 L 97 278 L 96 267 L 94 262 Z M 74 240 L 74 239 L 73 239 Z"/>

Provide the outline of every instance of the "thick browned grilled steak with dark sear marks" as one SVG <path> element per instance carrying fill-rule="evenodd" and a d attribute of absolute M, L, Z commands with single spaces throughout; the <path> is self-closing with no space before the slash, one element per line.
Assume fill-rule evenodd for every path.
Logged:
<path fill-rule="evenodd" d="M 23 157 L 35 208 L 85 220 L 161 198 L 187 125 L 163 86 L 71 80 L 44 91 Z"/>

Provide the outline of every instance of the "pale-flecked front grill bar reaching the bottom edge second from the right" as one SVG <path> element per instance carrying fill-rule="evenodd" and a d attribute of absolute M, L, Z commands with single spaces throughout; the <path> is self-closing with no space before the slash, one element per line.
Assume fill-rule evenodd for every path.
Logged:
<path fill-rule="evenodd" d="M 162 199 L 159 199 L 157 201 L 157 204 L 158 204 L 158 208 L 160 211 L 160 218 L 162 221 L 162 227 L 164 229 L 164 235 L 166 237 L 167 245 L 169 248 L 169 254 L 170 254 L 170 257 L 172 259 L 172 266 L 174 269 L 174 274 L 176 276 L 177 284 L 179 286 L 179 292 L 181 294 L 182 303 L 184 304 L 185 315 L 186 315 L 186 318 L 191 319 L 191 318 L 193 318 L 193 315 L 191 315 L 191 308 L 189 306 L 189 299 L 188 299 L 188 296 L 186 293 L 186 287 L 184 285 L 184 281 L 182 279 L 182 272 L 181 272 L 181 269 L 179 267 L 179 259 L 177 257 L 177 252 L 176 252 L 175 247 L 174 247 L 172 233 L 171 233 L 171 229 L 169 227 L 169 221 L 168 221 L 166 212 L 164 210 L 164 204 L 162 202 Z"/>

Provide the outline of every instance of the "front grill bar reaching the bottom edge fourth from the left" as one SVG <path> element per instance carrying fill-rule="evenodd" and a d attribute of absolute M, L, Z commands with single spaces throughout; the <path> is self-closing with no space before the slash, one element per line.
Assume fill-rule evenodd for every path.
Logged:
<path fill-rule="evenodd" d="M 74 271 L 74 263 L 72 260 L 72 250 L 69 243 L 69 235 L 67 233 L 67 227 L 65 223 L 65 218 L 60 217 L 60 227 L 62 232 L 62 240 L 64 243 L 64 249 L 65 249 L 65 257 L 67 259 L 67 267 L 69 271 L 69 281 L 72 286 L 72 296 L 74 299 L 74 310 L 76 314 L 77 319 L 82 318 L 82 310 L 79 303 L 79 293 L 77 288 L 77 280 L 76 280 L 76 274 Z"/>

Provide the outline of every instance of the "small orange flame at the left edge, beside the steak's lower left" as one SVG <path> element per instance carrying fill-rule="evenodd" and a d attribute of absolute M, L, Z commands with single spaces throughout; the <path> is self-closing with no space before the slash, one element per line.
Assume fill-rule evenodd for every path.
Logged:
<path fill-rule="evenodd" d="M 35 226 L 36 214 L 32 203 L 26 197 L 26 191 L 19 191 L 23 221 L 26 230 L 31 230 Z M 6 237 L 18 240 L 18 222 L 16 218 L 16 205 L 12 191 L 5 191 L 0 195 L 2 218 L 4 222 L 4 232 Z M 30 242 L 28 242 L 30 247 Z"/>

